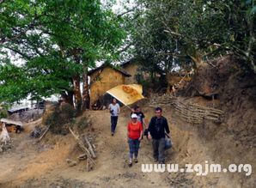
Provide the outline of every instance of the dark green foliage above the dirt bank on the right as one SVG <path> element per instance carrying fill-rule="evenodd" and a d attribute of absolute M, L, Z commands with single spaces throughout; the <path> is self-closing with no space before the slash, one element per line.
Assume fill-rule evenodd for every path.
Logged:
<path fill-rule="evenodd" d="M 133 40 L 149 74 L 234 54 L 256 73 L 253 1 L 138 0 Z"/>

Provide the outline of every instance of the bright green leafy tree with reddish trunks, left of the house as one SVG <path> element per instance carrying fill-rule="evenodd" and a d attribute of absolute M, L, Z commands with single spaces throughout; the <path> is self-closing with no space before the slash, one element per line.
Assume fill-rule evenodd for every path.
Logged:
<path fill-rule="evenodd" d="M 117 58 L 126 36 L 119 27 L 122 18 L 99 0 L 17 0 L 0 5 L 0 52 L 6 57 L 1 58 L 0 99 L 61 94 L 72 104 L 74 95 L 76 109 L 87 108 L 88 68 Z M 6 63 L 9 52 L 23 63 Z M 7 76 L 9 66 L 21 70 L 19 89 Z"/>

